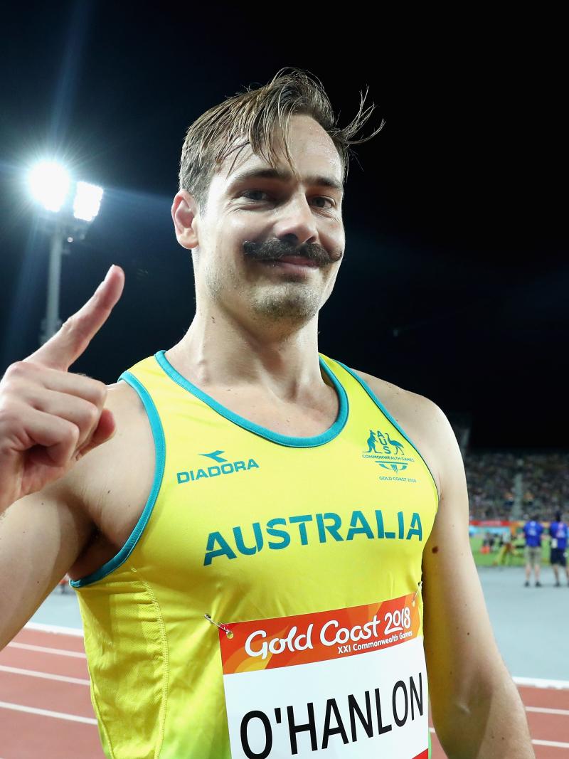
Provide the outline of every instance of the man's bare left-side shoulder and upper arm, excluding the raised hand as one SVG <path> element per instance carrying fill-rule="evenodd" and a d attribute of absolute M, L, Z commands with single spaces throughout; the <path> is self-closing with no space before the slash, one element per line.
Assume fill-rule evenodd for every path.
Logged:
<path fill-rule="evenodd" d="M 154 474 L 146 411 L 127 383 L 108 387 L 105 409 L 116 435 L 0 516 L 0 649 L 66 572 L 77 579 L 93 571 L 85 566 L 92 567 L 97 546 L 116 553 L 146 503 Z M 130 466 L 134 446 L 140 468 Z"/>

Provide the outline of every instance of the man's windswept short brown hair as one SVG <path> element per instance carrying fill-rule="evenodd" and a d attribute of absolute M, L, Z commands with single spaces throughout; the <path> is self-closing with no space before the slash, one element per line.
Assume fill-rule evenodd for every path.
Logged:
<path fill-rule="evenodd" d="M 368 137 L 356 139 L 375 109 L 373 103 L 365 107 L 366 97 L 367 90 L 360 95 L 360 109 L 355 118 L 346 127 L 339 128 L 322 82 L 308 71 L 282 68 L 268 84 L 256 90 L 249 87 L 225 99 L 190 125 L 180 160 L 180 189 L 190 192 L 203 207 L 216 168 L 235 152 L 232 170 L 247 145 L 257 156 L 275 165 L 275 131 L 282 134 L 285 156 L 291 162 L 287 133 L 292 115 L 312 117 L 329 134 L 338 150 L 345 180 L 351 145 L 375 137 L 384 124 L 382 120 Z"/>

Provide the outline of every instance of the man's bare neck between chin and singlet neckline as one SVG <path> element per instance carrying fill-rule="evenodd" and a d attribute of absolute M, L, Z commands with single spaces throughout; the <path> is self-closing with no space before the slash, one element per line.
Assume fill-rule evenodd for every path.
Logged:
<path fill-rule="evenodd" d="M 202 389 L 259 388 L 294 401 L 322 392 L 318 317 L 294 328 L 244 324 L 215 305 L 198 309 L 187 333 L 167 351 L 168 361 Z"/>

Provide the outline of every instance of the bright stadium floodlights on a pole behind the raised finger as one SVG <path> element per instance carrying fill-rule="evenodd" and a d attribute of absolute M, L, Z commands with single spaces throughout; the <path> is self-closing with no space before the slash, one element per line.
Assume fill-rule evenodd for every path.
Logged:
<path fill-rule="evenodd" d="M 39 339 L 43 344 L 61 326 L 61 258 L 69 252 L 68 244 L 85 239 L 90 223 L 99 213 L 103 191 L 94 184 L 72 182 L 61 165 L 48 161 L 32 169 L 29 184 L 34 199 L 42 206 L 42 219 L 50 235 L 46 317 Z"/>

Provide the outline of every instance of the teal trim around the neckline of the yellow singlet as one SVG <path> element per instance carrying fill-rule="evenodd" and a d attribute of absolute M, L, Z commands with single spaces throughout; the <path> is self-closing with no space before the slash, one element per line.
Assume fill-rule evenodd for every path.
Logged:
<path fill-rule="evenodd" d="M 206 403 L 206 405 L 208 405 L 209 408 L 212 408 L 213 411 L 217 411 L 217 413 L 221 414 L 222 417 L 225 417 L 234 424 L 237 424 L 244 430 L 249 430 L 249 432 L 252 432 L 255 435 L 259 435 L 260 437 L 264 437 L 267 440 L 276 442 L 279 446 L 288 446 L 290 448 L 315 448 L 316 446 L 322 446 L 326 442 L 330 442 L 335 437 L 337 437 L 346 425 L 347 414 L 349 411 L 347 393 L 344 390 L 344 387 L 335 377 L 334 373 L 332 373 L 332 370 L 322 359 L 322 357 L 319 358 L 320 367 L 325 375 L 329 377 L 335 388 L 336 394 L 338 395 L 340 408 L 338 409 L 338 417 L 336 417 L 336 420 L 334 424 L 332 424 L 332 427 L 330 427 L 322 434 L 313 437 L 293 437 L 289 435 L 281 435 L 279 433 L 272 432 L 272 430 L 267 430 L 266 427 L 261 427 L 259 424 L 254 424 L 248 419 L 240 417 L 239 414 L 234 414 L 233 411 L 229 411 L 228 408 L 222 406 L 221 403 L 215 401 L 210 395 L 207 395 L 205 392 L 203 392 L 203 390 L 200 390 L 199 387 L 196 387 L 190 383 L 188 379 L 181 376 L 181 374 L 174 369 L 174 367 L 165 357 L 165 351 L 158 351 L 158 353 L 155 354 L 155 358 L 165 373 L 168 374 L 168 376 L 173 379 L 175 383 L 178 383 L 178 385 L 183 387 L 184 390 L 187 390 L 187 392 L 190 392 L 192 395 L 195 395 L 196 398 L 199 398 L 200 401 Z"/>

